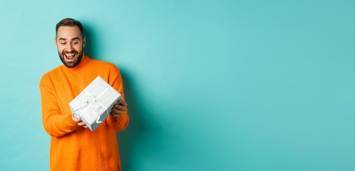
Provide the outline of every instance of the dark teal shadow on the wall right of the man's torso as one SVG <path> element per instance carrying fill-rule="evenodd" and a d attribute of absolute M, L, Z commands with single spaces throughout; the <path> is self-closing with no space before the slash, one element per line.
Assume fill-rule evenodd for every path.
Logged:
<path fill-rule="evenodd" d="M 116 66 L 121 72 L 129 116 L 127 128 L 117 132 L 122 171 L 140 171 L 144 167 L 142 164 L 146 165 L 147 161 L 165 167 L 176 164 L 180 159 L 179 153 L 175 149 L 176 145 L 167 144 L 171 139 L 167 142 L 167 130 L 158 123 L 163 121 L 156 120 L 158 110 L 148 105 L 141 93 L 142 85 L 134 83 L 128 69 Z"/>

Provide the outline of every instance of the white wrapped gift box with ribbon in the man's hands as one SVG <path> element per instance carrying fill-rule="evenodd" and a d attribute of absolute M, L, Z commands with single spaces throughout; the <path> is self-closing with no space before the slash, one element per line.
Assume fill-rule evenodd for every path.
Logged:
<path fill-rule="evenodd" d="M 120 99 L 121 94 L 99 75 L 69 103 L 69 107 L 77 118 L 81 118 L 81 121 L 94 131 Z"/>

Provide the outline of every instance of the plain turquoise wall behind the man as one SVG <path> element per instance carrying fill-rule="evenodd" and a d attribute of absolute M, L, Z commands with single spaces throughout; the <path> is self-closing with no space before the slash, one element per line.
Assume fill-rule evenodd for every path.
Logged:
<path fill-rule="evenodd" d="M 123 171 L 354 171 L 353 0 L 1 0 L 0 168 L 49 170 L 55 24 L 122 73 Z"/>

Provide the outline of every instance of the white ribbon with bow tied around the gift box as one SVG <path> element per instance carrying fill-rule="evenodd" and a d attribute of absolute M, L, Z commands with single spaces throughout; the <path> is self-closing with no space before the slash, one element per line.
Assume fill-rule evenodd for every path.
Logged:
<path fill-rule="evenodd" d="M 82 100 L 82 101 L 84 102 L 84 104 L 81 105 L 80 107 L 76 107 L 76 109 L 74 110 L 74 112 L 76 112 L 76 113 L 79 115 L 79 117 L 81 118 L 81 116 L 85 113 L 85 111 L 86 111 L 92 104 L 94 104 L 95 102 L 97 102 L 99 105 L 101 105 L 101 107 L 103 107 L 103 108 L 106 110 L 106 114 L 107 114 L 107 117 L 108 117 L 109 113 L 108 113 L 107 107 L 105 107 L 104 105 L 102 105 L 101 102 L 98 101 L 98 99 L 101 97 L 101 95 L 102 95 L 104 92 L 106 92 L 106 90 L 108 90 L 109 87 L 110 87 L 110 85 L 108 85 L 108 86 L 106 87 L 106 89 L 103 90 L 103 91 L 101 92 L 101 94 L 100 94 L 97 98 L 96 98 L 94 95 L 92 95 L 91 93 L 89 93 L 88 91 L 86 91 L 86 89 L 84 89 L 84 92 L 85 92 L 86 94 L 88 94 L 90 97 L 89 97 L 88 99 Z M 87 104 L 89 103 L 88 100 L 90 100 L 91 97 L 94 98 L 94 101 L 91 102 L 91 103 L 87 106 Z M 96 104 L 96 106 L 94 107 L 94 110 L 98 107 L 98 104 Z M 87 106 L 87 107 L 81 112 L 79 109 L 82 108 L 82 107 L 85 107 L 85 106 Z M 98 112 L 96 112 L 96 111 L 93 111 L 93 113 L 95 113 L 96 115 L 98 115 L 98 118 L 96 119 L 96 123 L 98 123 L 98 124 L 102 123 L 102 121 L 99 121 L 99 120 L 100 120 L 100 114 L 99 114 Z M 73 116 L 72 116 L 72 117 L 73 117 Z M 73 120 L 74 120 L 74 117 L 73 117 Z"/>

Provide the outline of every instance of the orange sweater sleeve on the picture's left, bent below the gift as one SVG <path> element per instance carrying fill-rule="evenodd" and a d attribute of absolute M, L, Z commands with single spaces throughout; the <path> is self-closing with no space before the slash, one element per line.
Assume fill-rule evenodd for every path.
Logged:
<path fill-rule="evenodd" d="M 63 136 L 78 128 L 71 113 L 61 113 L 48 77 L 43 76 L 39 85 L 42 102 L 42 123 L 51 136 Z"/>

